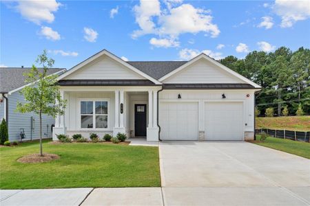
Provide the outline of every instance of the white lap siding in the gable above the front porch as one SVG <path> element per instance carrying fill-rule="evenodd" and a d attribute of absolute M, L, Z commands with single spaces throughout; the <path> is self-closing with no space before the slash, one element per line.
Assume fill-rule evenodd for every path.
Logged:
<path fill-rule="evenodd" d="M 121 65 L 110 57 L 102 56 L 74 71 L 65 80 L 119 80 L 119 79 L 145 79 L 134 71 Z"/>

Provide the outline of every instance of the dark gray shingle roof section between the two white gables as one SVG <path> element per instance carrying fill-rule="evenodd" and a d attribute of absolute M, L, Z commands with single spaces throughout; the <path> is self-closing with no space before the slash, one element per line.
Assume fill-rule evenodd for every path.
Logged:
<path fill-rule="evenodd" d="M 150 62 L 127 62 L 136 69 L 146 73 L 148 76 L 158 80 L 167 73 L 184 65 L 187 61 L 150 61 Z"/>

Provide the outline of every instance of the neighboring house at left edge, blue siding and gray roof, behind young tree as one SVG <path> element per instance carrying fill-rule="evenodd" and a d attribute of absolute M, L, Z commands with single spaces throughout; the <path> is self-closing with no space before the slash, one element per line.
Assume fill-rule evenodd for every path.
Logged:
<path fill-rule="evenodd" d="M 39 115 L 34 113 L 19 113 L 16 111 L 17 102 L 24 102 L 20 91 L 25 87 L 25 76 L 23 73 L 30 71 L 31 68 L 3 67 L 0 68 L 0 119 L 7 119 L 9 140 L 19 140 L 21 128 L 24 129 L 26 139 L 38 139 Z M 65 69 L 48 69 L 48 74 L 60 74 Z M 43 137 L 52 137 L 52 125 L 54 118 L 42 115 Z"/>

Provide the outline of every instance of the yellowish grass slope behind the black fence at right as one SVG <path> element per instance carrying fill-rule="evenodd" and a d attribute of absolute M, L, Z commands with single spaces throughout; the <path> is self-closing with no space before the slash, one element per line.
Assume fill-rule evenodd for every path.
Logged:
<path fill-rule="evenodd" d="M 256 117 L 256 128 L 310 131 L 310 116 Z"/>

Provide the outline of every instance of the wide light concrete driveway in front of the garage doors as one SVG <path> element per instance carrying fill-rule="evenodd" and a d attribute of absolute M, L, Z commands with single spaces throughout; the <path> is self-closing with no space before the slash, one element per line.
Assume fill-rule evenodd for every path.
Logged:
<path fill-rule="evenodd" d="M 159 145 L 165 205 L 309 205 L 310 161 L 244 141 Z"/>

